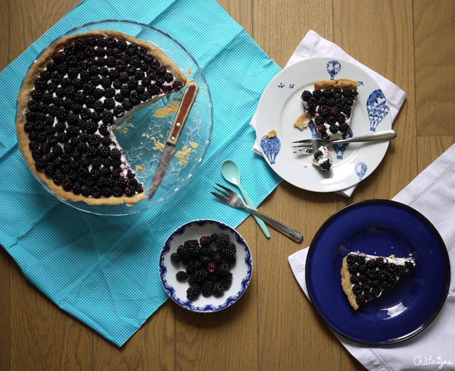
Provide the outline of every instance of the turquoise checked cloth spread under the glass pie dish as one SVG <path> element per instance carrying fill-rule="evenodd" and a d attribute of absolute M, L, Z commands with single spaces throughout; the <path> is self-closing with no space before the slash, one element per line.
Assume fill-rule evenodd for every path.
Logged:
<path fill-rule="evenodd" d="M 143 213 L 90 215 L 61 203 L 32 176 L 18 149 L 16 98 L 28 67 L 54 38 L 91 21 L 146 23 L 185 45 L 208 81 L 213 136 L 196 176 L 173 198 Z M 237 227 L 249 215 L 210 195 L 230 158 L 258 205 L 281 179 L 252 152 L 248 124 L 280 68 L 214 0 L 85 0 L 0 72 L 0 243 L 55 304 L 122 345 L 168 296 L 159 254 L 180 225 L 214 219 Z"/>

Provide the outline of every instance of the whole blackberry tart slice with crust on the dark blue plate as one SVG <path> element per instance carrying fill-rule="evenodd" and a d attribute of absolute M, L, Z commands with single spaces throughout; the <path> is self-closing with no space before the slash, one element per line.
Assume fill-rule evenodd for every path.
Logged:
<path fill-rule="evenodd" d="M 411 257 L 377 257 L 350 252 L 343 259 L 341 284 L 350 305 L 357 310 L 362 304 L 378 298 L 408 271 L 415 267 Z"/>

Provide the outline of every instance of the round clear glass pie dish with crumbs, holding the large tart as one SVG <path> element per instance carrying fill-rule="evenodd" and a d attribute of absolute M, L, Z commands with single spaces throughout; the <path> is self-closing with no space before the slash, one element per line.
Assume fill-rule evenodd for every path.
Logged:
<path fill-rule="evenodd" d="M 210 90 L 198 63 L 188 51 L 171 36 L 146 24 L 134 21 L 107 20 L 87 23 L 71 29 L 59 36 L 49 45 L 77 33 L 92 30 L 111 30 L 125 33 L 129 36 L 156 45 L 183 72 L 187 80 L 195 80 L 199 85 L 199 94 L 183 128 L 174 155 L 159 189 L 151 200 L 141 200 L 134 205 L 89 205 L 85 202 L 73 202 L 60 198 L 48 188 L 33 171 L 33 176 L 43 187 L 63 203 L 78 210 L 97 215 L 129 215 L 154 208 L 175 195 L 193 178 L 208 151 L 213 129 L 213 107 Z M 44 52 L 36 56 L 36 60 Z M 36 60 L 33 63 L 36 63 Z M 32 63 L 32 65 L 33 65 Z M 32 66 L 31 65 L 31 66 Z M 135 112 L 132 117 L 125 119 L 114 134 L 124 151 L 130 166 L 136 172 L 137 178 L 144 185 L 147 193 L 156 166 L 161 158 L 166 138 L 175 117 L 176 107 L 181 100 L 182 92 L 174 92 L 158 102 Z M 16 119 L 18 104 L 16 104 Z"/>

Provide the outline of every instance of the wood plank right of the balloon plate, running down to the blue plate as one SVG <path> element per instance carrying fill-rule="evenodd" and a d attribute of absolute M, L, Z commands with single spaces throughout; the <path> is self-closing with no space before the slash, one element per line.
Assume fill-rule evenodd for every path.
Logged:
<path fill-rule="evenodd" d="M 358 185 L 352 198 L 340 197 L 339 205 L 368 198 L 390 199 L 418 173 L 417 149 L 410 140 L 416 135 L 412 3 L 368 0 L 358 6 L 355 1 L 335 1 L 334 14 L 334 25 L 339 30 L 335 42 L 407 93 L 392 125 L 397 138 L 390 142 L 380 166 Z"/>

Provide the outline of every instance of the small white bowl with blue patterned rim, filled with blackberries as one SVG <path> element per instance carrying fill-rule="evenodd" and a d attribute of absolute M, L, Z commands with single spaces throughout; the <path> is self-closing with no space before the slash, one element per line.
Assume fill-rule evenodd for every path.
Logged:
<path fill-rule="evenodd" d="M 189 311 L 228 308 L 245 293 L 252 257 L 243 237 L 216 220 L 194 220 L 166 240 L 159 259 L 168 296 Z"/>

